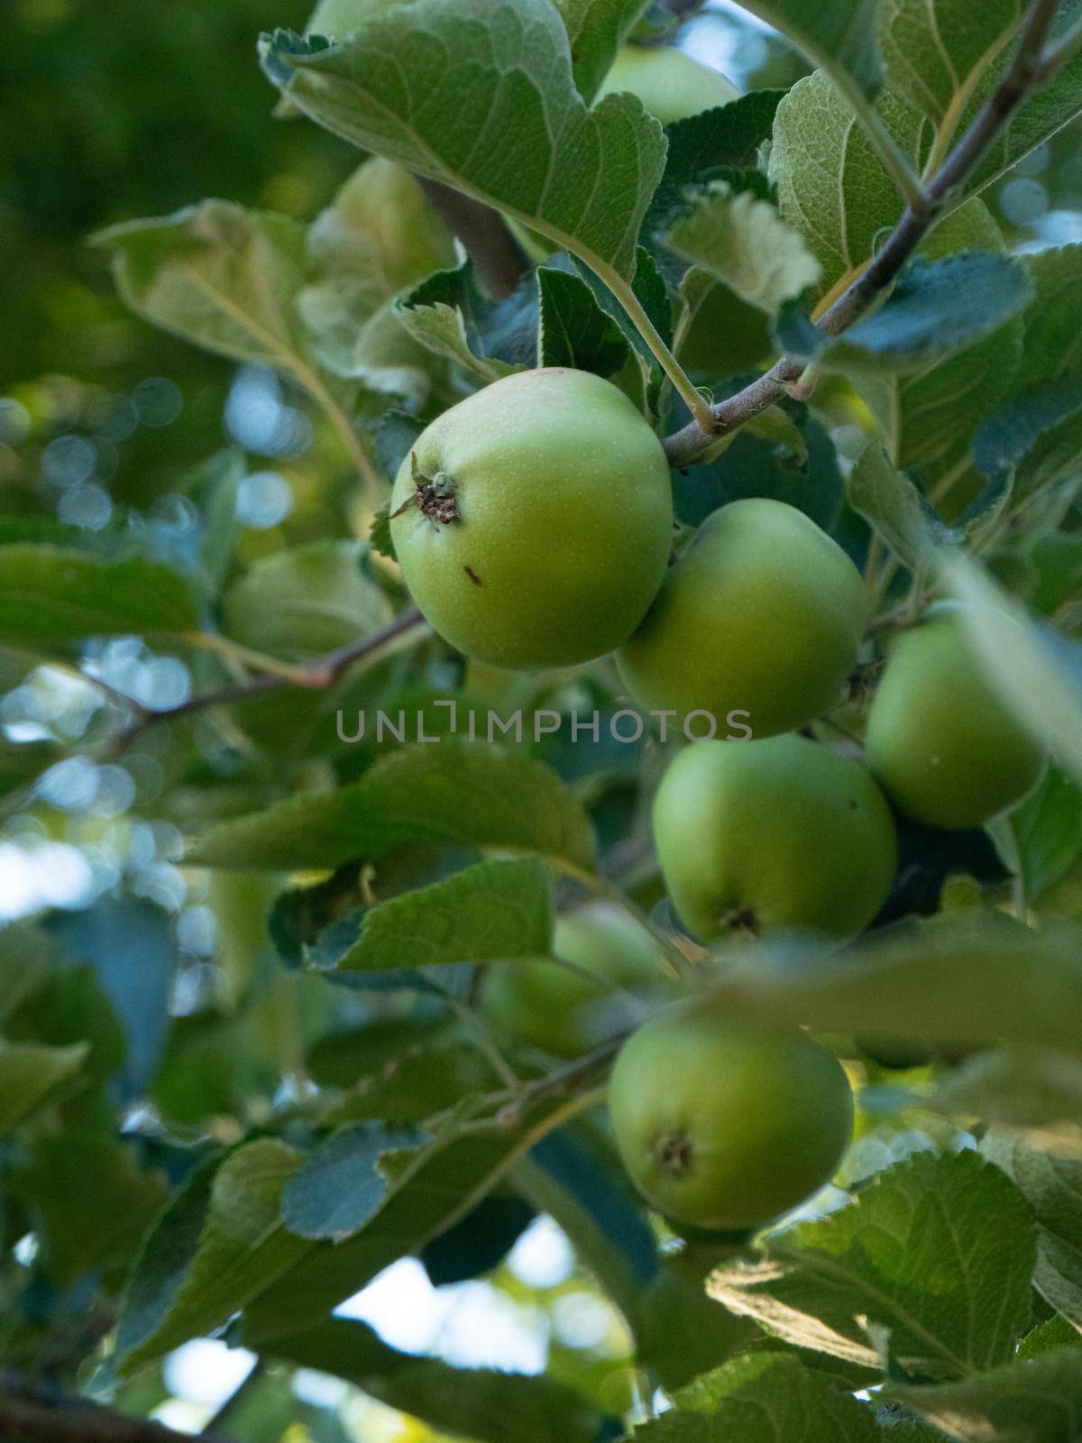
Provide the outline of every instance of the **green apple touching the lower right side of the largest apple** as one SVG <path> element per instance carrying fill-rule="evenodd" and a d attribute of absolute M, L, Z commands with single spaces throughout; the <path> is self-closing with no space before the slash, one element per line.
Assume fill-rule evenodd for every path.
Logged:
<path fill-rule="evenodd" d="M 756 496 L 707 517 L 616 661 L 639 706 L 767 737 L 841 698 L 864 618 L 841 547 L 795 506 Z"/>

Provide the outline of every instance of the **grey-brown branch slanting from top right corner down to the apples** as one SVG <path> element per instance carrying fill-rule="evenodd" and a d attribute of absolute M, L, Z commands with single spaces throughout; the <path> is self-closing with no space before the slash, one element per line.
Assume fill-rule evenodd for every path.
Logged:
<path fill-rule="evenodd" d="M 998 85 L 928 188 L 909 201 L 902 219 L 868 267 L 819 317 L 817 326 L 824 335 L 837 336 L 847 330 L 893 284 L 905 263 L 958 193 L 959 186 L 972 175 L 988 146 L 1026 94 L 1037 84 L 1043 84 L 1069 58 L 1072 53 L 1069 43 L 1047 55 L 1042 53 L 1057 4 L 1059 0 L 1033 0 L 1014 59 Z M 782 356 L 770 371 L 744 387 L 743 391 L 711 407 L 713 430 L 705 430 L 692 420 L 682 430 L 668 436 L 664 446 L 669 463 L 677 468 L 690 466 L 718 436 L 739 430 L 760 411 L 779 401 L 786 394 L 786 388 L 801 378 L 804 369 L 804 361 Z"/>

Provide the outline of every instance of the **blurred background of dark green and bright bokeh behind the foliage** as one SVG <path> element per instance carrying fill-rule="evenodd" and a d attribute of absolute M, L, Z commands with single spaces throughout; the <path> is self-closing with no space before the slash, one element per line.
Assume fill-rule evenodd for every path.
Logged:
<path fill-rule="evenodd" d="M 150 550 L 186 556 L 203 544 L 214 494 L 214 476 L 201 468 L 225 446 L 237 457 L 229 465 L 239 468 L 225 495 L 242 561 L 359 531 L 348 457 L 307 401 L 268 371 L 231 365 L 146 325 L 118 299 L 107 254 L 88 244 L 102 227 L 166 215 L 203 196 L 300 219 L 330 202 L 356 153 L 315 126 L 276 120 L 274 94 L 255 63 L 258 32 L 300 30 L 306 12 L 304 0 L 278 0 L 273 9 L 255 0 L 9 0 L 4 7 L 4 538 L 48 535 L 35 527 L 58 522 L 89 535 L 120 527 L 138 532 Z M 788 85 L 804 69 L 731 6 L 695 16 L 681 43 L 744 87 Z M 1078 127 L 1063 131 L 990 198 L 1016 245 L 1082 240 L 1078 141 Z M 193 687 L 190 658 L 157 654 L 138 638 L 101 644 L 84 667 L 147 706 L 180 701 Z M 50 945 L 71 961 L 33 997 L 33 978 L 13 984 L 0 965 L 0 980 L 19 991 L 4 999 L 9 1032 L 12 1017 L 22 1017 L 27 1035 L 63 1045 L 89 1029 L 101 1078 L 65 1117 L 69 1128 L 85 1124 L 84 1153 L 50 1154 L 46 1146 L 4 1212 L 12 1253 L 0 1271 L 0 1349 L 17 1364 L 48 1332 L 61 1372 L 65 1349 L 82 1356 L 95 1328 L 108 1326 L 88 1306 L 97 1280 L 123 1271 L 162 1196 L 151 1172 L 133 1166 L 105 1130 L 95 1131 L 94 1110 L 111 1115 L 117 1105 L 134 1107 L 153 1081 L 170 1130 L 157 1152 L 153 1128 L 140 1134 L 141 1162 L 177 1176 L 186 1167 L 186 1127 L 195 1137 L 208 1115 L 231 1113 L 258 1126 L 260 1108 L 281 1101 L 277 1069 L 263 1076 L 245 1068 L 261 1052 L 296 1053 L 323 1007 L 323 984 L 283 980 L 261 934 L 257 1004 L 242 1013 L 206 1007 L 208 999 L 228 1000 L 232 952 L 250 947 L 247 912 L 261 926 L 265 895 L 245 899 L 226 879 L 222 886 L 232 890 L 215 896 L 205 874 L 176 866 L 183 817 L 156 807 L 167 782 L 179 782 L 167 776 L 164 740 L 149 736 L 123 762 L 68 755 L 92 737 L 100 707 L 100 691 L 69 668 L 0 655 L 0 922 L 45 916 Z M 186 766 L 198 765 L 199 750 Z M 201 808 L 212 802 L 212 791 L 199 794 Z M 0 934 L 0 954 L 14 935 Z M 278 1006 L 281 987 L 296 987 L 289 1009 Z M 151 1019 L 166 1014 L 163 1062 L 164 1036 Z M 257 1030 L 260 1046 L 244 1045 L 244 1029 Z M 192 1092 L 196 1076 L 202 1097 Z M 137 1127 L 138 1117 L 130 1121 Z M 228 1123 L 219 1126 L 219 1140 L 234 1140 Z M 905 1133 L 876 1139 L 864 1170 L 919 1140 Z M 88 1176 L 101 1183 L 97 1206 Z M 85 1211 L 81 1241 L 69 1228 L 72 1208 Z M 53 1250 L 43 1261 L 50 1218 L 63 1218 L 58 1235 L 68 1251 Z M 623 1325 L 554 1224 L 519 1218 L 522 1225 L 508 1261 L 483 1281 L 433 1283 L 463 1268 L 469 1274 L 478 1241 L 463 1238 L 465 1263 L 428 1258 L 426 1270 L 404 1261 L 355 1302 L 352 1315 L 407 1352 L 527 1372 L 548 1367 L 613 1410 L 625 1408 L 635 1378 Z M 163 1369 L 138 1375 L 121 1401 L 199 1427 L 250 1367 L 248 1355 L 224 1343 L 190 1343 Z M 244 1407 L 247 1418 L 237 1410 L 229 1418 L 238 1439 L 437 1436 L 304 1369 L 263 1378 Z"/>

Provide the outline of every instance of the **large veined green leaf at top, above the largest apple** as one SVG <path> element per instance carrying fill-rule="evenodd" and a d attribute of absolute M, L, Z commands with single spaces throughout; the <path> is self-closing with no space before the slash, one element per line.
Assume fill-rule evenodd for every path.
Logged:
<path fill-rule="evenodd" d="M 415 0 L 340 45 L 278 30 L 260 52 L 278 89 L 322 126 L 630 280 L 664 134 L 629 95 L 587 110 L 548 0 Z"/>

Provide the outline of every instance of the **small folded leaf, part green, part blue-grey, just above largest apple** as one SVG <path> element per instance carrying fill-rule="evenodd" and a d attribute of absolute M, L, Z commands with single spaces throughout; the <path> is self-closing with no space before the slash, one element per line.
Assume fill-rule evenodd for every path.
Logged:
<path fill-rule="evenodd" d="M 489 300 L 478 290 L 473 266 L 466 260 L 400 296 L 395 312 L 415 341 L 485 385 L 537 364 L 532 283 L 524 283 L 506 300 Z"/>

